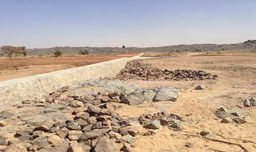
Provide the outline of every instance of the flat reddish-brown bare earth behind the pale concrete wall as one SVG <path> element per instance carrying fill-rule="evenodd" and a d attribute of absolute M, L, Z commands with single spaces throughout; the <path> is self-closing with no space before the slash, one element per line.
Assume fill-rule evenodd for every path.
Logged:
<path fill-rule="evenodd" d="M 1 57 L 0 81 L 86 66 L 117 58 L 133 57 L 137 54 L 81 55 L 73 57 Z"/>

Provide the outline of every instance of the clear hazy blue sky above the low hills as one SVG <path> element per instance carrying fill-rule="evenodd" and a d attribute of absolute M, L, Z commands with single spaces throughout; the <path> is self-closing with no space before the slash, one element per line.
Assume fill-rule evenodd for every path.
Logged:
<path fill-rule="evenodd" d="M 256 0 L 0 0 L 0 46 L 136 47 L 256 39 Z"/>

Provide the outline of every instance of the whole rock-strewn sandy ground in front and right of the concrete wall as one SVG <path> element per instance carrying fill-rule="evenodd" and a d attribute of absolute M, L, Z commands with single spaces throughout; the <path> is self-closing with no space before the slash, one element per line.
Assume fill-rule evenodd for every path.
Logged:
<path fill-rule="evenodd" d="M 3 110 L 0 150 L 255 151 L 255 58 L 131 61 L 114 78 L 70 83 Z"/>

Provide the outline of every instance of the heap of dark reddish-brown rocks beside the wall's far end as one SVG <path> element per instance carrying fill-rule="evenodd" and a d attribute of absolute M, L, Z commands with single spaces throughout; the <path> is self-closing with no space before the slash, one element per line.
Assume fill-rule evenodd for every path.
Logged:
<path fill-rule="evenodd" d="M 161 70 L 151 65 L 145 65 L 139 60 L 127 62 L 125 68 L 118 73 L 114 79 L 125 81 L 127 79 L 137 79 L 142 81 L 155 81 L 164 79 L 167 81 L 189 81 L 193 79 L 216 79 L 217 75 L 211 75 L 203 70 Z M 107 78 L 110 79 L 110 78 Z"/>

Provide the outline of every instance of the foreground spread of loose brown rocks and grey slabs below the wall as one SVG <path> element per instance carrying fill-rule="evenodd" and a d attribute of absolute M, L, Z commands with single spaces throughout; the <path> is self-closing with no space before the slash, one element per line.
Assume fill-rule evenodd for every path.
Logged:
<path fill-rule="evenodd" d="M 175 101 L 170 94 L 164 95 L 164 91 L 171 91 L 177 99 L 178 90 L 157 87 L 139 88 L 135 93 L 122 93 L 117 90 L 102 94 L 102 89 L 107 86 L 96 89 L 91 87 L 94 83 L 109 84 L 114 89 L 114 83 L 121 82 L 97 83 L 93 80 L 76 83 L 70 87 L 62 87 L 58 92 L 41 99 L 26 100 L 3 110 L 0 113 L 0 151 L 115 151 L 117 143 L 123 143 L 119 149 L 131 151 L 131 146 L 127 143 L 134 143 L 134 136 L 137 134 L 153 134 L 161 125 L 174 130 L 182 129 L 183 122 L 177 115 L 161 111 L 153 115 L 130 118 L 115 113 L 116 106 L 111 103 L 121 102 L 122 99 L 129 101 L 135 97 L 143 100 L 152 98 L 151 100 L 161 101 L 165 98 Z M 83 87 L 70 90 L 75 85 Z M 84 94 L 86 90 L 98 92 Z M 123 85 L 124 90 L 129 92 L 130 89 Z M 141 91 L 146 94 L 147 91 L 154 92 L 155 95 L 149 97 L 145 94 L 139 97 Z"/>

